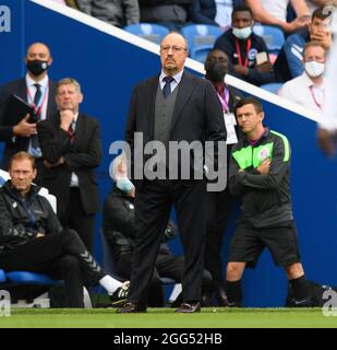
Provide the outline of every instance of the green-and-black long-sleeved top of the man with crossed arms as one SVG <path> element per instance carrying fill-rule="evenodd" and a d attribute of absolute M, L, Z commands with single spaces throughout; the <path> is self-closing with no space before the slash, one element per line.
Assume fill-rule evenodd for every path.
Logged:
<path fill-rule="evenodd" d="M 255 228 L 277 226 L 293 219 L 290 195 L 290 144 L 268 128 L 252 145 L 243 137 L 233 145 L 229 165 L 229 189 L 242 197 L 242 222 Z M 269 173 L 256 168 L 272 160 Z M 239 170 L 242 170 L 239 172 Z"/>

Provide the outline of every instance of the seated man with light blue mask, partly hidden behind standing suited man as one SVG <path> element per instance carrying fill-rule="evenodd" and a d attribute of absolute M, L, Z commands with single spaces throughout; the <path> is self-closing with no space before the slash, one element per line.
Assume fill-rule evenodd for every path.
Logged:
<path fill-rule="evenodd" d="M 135 188 L 127 177 L 127 165 L 123 155 L 116 158 L 112 167 L 112 177 L 116 182 L 116 186 L 112 192 L 109 194 L 105 200 L 104 234 L 113 248 L 113 256 L 117 262 L 117 273 L 121 278 L 129 279 L 131 277 L 133 242 L 136 235 L 134 222 Z M 165 231 L 164 241 L 172 238 L 174 236 L 174 231 L 176 226 L 173 222 L 169 221 Z M 166 243 L 161 243 L 152 279 L 148 298 L 149 306 L 164 306 L 164 292 L 160 277 L 171 278 L 180 283 L 183 275 L 183 257 L 173 255 L 168 245 Z M 202 298 L 204 304 L 209 303 L 207 293 L 209 291 L 210 283 L 210 273 L 208 271 L 204 271 L 204 296 Z M 178 300 L 180 300 L 179 296 Z M 177 304 L 178 300 L 176 301 Z M 181 302 L 182 300 L 180 300 L 180 303 Z"/>

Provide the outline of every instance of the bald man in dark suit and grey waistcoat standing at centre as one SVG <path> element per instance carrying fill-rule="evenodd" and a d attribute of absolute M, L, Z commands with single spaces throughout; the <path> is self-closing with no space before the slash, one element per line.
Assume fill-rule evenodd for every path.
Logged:
<path fill-rule="evenodd" d="M 135 86 L 125 129 L 125 140 L 131 145 L 135 162 L 143 155 L 143 149 L 136 147 L 135 132 L 143 137 L 144 144 L 160 141 L 165 145 L 165 155 L 154 166 L 171 154 L 167 147 L 171 141 L 200 142 L 226 141 L 226 128 L 219 100 L 212 83 L 184 71 L 188 45 L 178 33 L 168 34 L 160 44 L 161 73 Z M 144 153 L 144 154 L 143 154 Z M 188 161 L 196 158 L 189 150 Z M 145 162 L 145 167 L 147 166 Z M 186 161 L 186 160 L 185 160 Z M 139 162 L 137 162 L 139 163 Z M 176 165 L 186 162 L 173 160 Z M 167 163 L 166 163 L 167 164 Z M 133 163 L 133 170 L 140 164 Z M 201 168 L 203 166 L 201 165 Z M 161 167 L 163 168 L 163 167 Z M 120 313 L 145 312 L 151 278 L 156 262 L 159 245 L 163 241 L 171 205 L 177 211 L 178 228 L 184 249 L 185 265 L 182 280 L 183 303 L 177 312 L 193 313 L 201 310 L 201 285 L 204 267 L 204 243 L 206 234 L 206 180 L 201 173 L 197 176 L 178 176 L 165 166 L 165 178 L 151 179 L 145 176 L 135 178 L 135 225 L 137 235 L 132 265 L 131 291 L 128 303 Z M 191 168 L 190 168 L 191 175 Z M 163 174 L 161 174 L 163 175 Z M 168 175 L 168 176 L 167 176 Z"/>

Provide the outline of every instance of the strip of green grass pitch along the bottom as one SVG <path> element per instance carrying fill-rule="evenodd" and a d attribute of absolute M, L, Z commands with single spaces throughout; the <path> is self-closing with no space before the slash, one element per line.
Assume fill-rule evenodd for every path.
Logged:
<path fill-rule="evenodd" d="M 12 310 L 0 317 L 0 328 L 317 328 L 337 327 L 337 317 L 322 308 L 203 308 L 176 314 L 172 308 L 148 308 L 146 314 L 116 314 L 116 310 Z"/>

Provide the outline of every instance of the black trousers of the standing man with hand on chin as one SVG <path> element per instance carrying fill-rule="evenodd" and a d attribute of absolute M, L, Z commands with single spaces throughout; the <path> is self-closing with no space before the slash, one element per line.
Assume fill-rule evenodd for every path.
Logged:
<path fill-rule="evenodd" d="M 77 187 L 70 188 L 67 209 L 60 210 L 59 219 L 63 228 L 69 228 L 77 232 L 87 250 L 93 254 L 95 214 L 87 214 L 84 211 L 80 189 Z"/>

